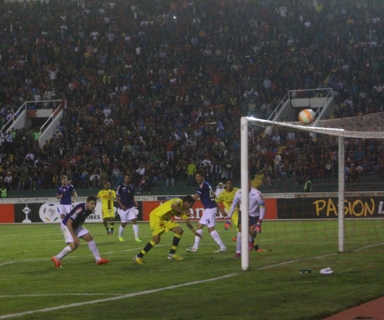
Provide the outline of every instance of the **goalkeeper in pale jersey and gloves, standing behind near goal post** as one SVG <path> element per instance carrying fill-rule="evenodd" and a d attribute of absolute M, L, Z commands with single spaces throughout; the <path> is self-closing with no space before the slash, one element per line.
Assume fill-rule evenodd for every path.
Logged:
<path fill-rule="evenodd" d="M 261 233 L 261 224 L 265 216 L 265 203 L 264 198 L 261 192 L 255 188 L 251 187 L 251 179 L 248 181 L 249 185 L 249 235 L 251 236 L 251 241 L 249 247 L 259 250 L 258 245 L 254 245 L 254 239 L 257 234 Z M 242 190 L 238 190 L 233 198 L 232 206 L 230 206 L 230 211 L 228 213 L 227 222 L 230 224 L 232 214 L 235 212 L 237 204 L 242 199 Z M 242 215 L 239 213 L 239 222 L 238 222 L 239 231 L 237 232 L 236 237 L 236 254 L 235 258 L 239 258 L 242 253 Z"/>

